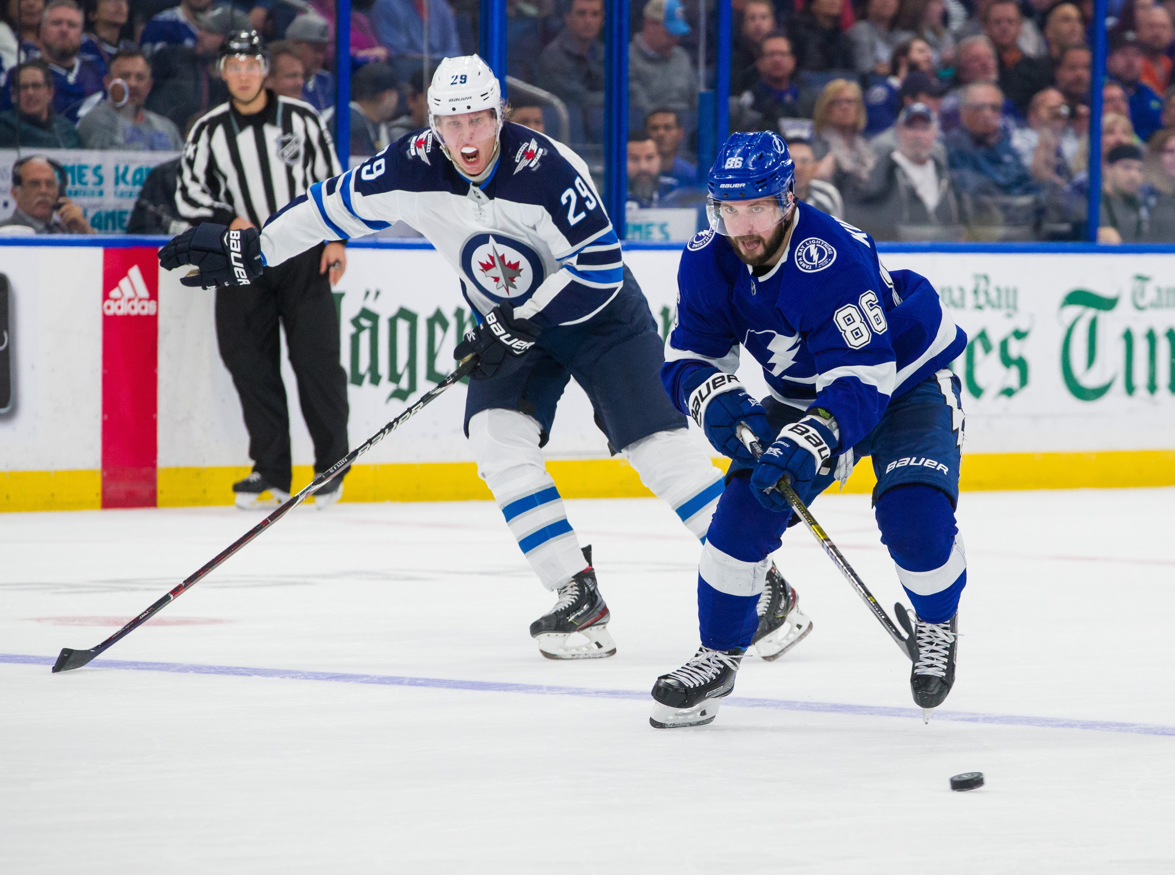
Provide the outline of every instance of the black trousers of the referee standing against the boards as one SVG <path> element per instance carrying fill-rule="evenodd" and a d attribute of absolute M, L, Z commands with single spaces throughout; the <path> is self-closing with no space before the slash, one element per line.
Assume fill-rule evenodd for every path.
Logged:
<path fill-rule="evenodd" d="M 314 470 L 347 455 L 347 373 L 340 363 L 338 316 L 320 243 L 249 285 L 216 290 L 216 341 L 241 396 L 253 470 L 290 489 L 290 418 L 281 373 L 277 323 L 286 329 L 302 416 L 314 440 Z"/>

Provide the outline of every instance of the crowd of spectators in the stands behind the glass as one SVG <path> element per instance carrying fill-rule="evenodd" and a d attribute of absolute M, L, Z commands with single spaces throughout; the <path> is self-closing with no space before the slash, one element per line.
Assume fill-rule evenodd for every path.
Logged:
<path fill-rule="evenodd" d="M 167 1 L 0 0 L 0 148 L 176 152 L 227 99 L 216 52 L 241 28 L 270 41 L 268 87 L 334 116 L 334 0 Z M 717 80 L 714 7 L 632 5 L 634 208 L 701 197 L 692 156 L 699 87 Z M 1092 0 L 733 8 L 731 127 L 785 136 L 805 202 L 880 240 L 1086 236 Z M 1110 11 L 1099 236 L 1171 241 L 1175 0 L 1112 0 Z M 430 65 L 476 51 L 478 14 L 474 0 L 352 2 L 352 154 L 427 123 Z M 598 148 L 604 15 L 604 0 L 508 2 L 508 66 L 535 86 L 512 95 L 515 121 L 553 135 L 553 96 L 571 144 Z"/>

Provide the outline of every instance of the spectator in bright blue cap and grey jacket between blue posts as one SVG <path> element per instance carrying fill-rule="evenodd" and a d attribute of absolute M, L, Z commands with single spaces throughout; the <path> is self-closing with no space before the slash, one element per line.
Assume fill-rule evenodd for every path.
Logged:
<path fill-rule="evenodd" d="M 680 0 L 649 0 L 640 33 L 629 43 L 629 105 L 642 115 L 698 106 L 698 74 L 678 38 L 690 33 Z"/>

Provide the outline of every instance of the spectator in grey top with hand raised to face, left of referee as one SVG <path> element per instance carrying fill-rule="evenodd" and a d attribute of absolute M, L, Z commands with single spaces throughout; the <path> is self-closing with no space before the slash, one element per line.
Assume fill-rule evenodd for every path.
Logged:
<path fill-rule="evenodd" d="M 78 123 L 87 149 L 179 152 L 183 139 L 175 124 L 143 108 L 152 89 L 150 65 L 137 48 L 110 58 L 103 80 L 107 97 Z"/>

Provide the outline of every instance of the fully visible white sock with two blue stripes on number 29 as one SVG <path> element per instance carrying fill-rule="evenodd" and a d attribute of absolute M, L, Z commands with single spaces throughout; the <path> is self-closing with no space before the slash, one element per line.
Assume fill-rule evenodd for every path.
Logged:
<path fill-rule="evenodd" d="M 538 449 L 538 423 L 515 410 L 483 410 L 469 420 L 477 473 L 494 492 L 506 525 L 548 590 L 586 567 L 563 499 Z"/>

